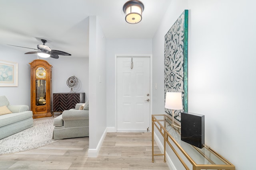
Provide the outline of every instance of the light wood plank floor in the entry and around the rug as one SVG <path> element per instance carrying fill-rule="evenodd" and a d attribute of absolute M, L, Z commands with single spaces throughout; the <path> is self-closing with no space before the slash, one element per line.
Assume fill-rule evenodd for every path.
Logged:
<path fill-rule="evenodd" d="M 151 133 L 107 133 L 97 158 L 88 158 L 89 138 L 62 139 L 38 149 L 0 155 L 0 169 L 168 170 L 163 156 L 152 163 Z M 155 154 L 160 153 L 154 144 Z"/>

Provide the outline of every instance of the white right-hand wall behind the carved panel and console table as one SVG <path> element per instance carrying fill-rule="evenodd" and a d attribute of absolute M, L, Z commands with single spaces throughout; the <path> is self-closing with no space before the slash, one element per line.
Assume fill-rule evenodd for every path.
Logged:
<path fill-rule="evenodd" d="M 158 84 L 154 114 L 164 112 L 164 35 L 189 10 L 188 111 L 205 115 L 206 144 L 236 170 L 254 169 L 256 152 L 255 5 L 250 0 L 172 0 L 152 41 L 153 84 Z"/>

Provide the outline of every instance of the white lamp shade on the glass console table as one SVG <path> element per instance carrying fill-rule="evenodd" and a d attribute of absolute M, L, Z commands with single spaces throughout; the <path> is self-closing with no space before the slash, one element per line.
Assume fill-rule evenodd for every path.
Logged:
<path fill-rule="evenodd" d="M 181 92 L 166 92 L 164 107 L 172 110 L 181 110 L 182 109 Z"/>

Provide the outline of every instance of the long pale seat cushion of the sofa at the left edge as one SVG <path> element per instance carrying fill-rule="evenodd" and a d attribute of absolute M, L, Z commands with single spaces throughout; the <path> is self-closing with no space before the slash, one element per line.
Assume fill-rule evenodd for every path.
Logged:
<path fill-rule="evenodd" d="M 0 127 L 9 125 L 33 116 L 32 111 L 23 111 L 21 113 L 9 113 L 0 116 Z"/>

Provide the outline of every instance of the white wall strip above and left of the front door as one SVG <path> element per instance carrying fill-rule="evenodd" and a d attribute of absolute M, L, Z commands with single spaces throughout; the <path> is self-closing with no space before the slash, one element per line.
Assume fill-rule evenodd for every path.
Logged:
<path fill-rule="evenodd" d="M 107 127 L 115 127 L 115 55 L 152 54 L 152 39 L 107 39 Z"/>

